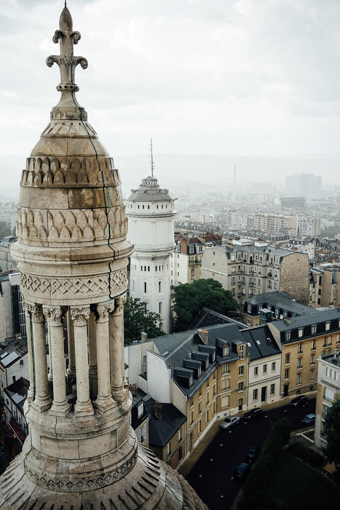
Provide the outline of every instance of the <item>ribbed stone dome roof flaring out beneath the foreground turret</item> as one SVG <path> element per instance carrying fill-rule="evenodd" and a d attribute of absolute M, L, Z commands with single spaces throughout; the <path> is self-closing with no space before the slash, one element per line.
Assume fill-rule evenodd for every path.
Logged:
<path fill-rule="evenodd" d="M 182 476 L 140 443 L 133 469 L 103 488 L 93 488 L 90 481 L 79 492 L 37 485 L 25 474 L 23 454 L 0 477 L 0 487 L 3 510 L 208 510 Z"/>

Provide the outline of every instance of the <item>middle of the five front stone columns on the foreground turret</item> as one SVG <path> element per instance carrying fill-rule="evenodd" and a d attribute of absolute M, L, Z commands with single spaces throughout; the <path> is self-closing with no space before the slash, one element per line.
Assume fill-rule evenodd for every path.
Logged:
<path fill-rule="evenodd" d="M 94 414 L 90 400 L 89 361 L 87 350 L 87 321 L 90 307 L 71 307 L 74 326 L 75 372 L 77 381 L 77 399 L 74 404 L 75 416 Z"/>

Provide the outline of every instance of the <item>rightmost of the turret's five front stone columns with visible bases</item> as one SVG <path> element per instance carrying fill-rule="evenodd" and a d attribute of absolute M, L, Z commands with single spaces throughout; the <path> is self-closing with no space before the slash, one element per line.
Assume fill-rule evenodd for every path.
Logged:
<path fill-rule="evenodd" d="M 124 400 L 124 386 L 122 373 L 122 358 L 124 360 L 124 344 L 122 341 L 124 302 L 120 296 L 115 299 L 115 309 L 110 313 L 110 363 L 111 363 L 111 393 L 117 402 Z M 124 338 L 124 337 L 123 337 Z"/>

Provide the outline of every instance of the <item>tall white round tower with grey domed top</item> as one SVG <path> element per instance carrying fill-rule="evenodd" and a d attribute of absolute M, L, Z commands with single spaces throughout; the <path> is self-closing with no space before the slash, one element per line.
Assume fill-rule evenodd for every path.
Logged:
<path fill-rule="evenodd" d="M 171 333 L 170 255 L 175 248 L 175 199 L 155 177 L 146 177 L 125 198 L 128 237 L 135 244 L 130 259 L 130 295 L 161 314 L 160 327 Z"/>

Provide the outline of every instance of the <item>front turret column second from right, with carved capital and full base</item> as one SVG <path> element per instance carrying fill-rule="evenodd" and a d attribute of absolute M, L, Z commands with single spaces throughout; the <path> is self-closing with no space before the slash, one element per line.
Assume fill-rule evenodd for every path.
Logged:
<path fill-rule="evenodd" d="M 98 396 L 93 405 L 100 411 L 107 411 L 115 405 L 111 396 L 110 383 L 110 340 L 109 340 L 109 311 L 114 310 L 112 304 L 97 304 L 96 306 L 96 337 L 97 337 L 97 370 Z"/>

